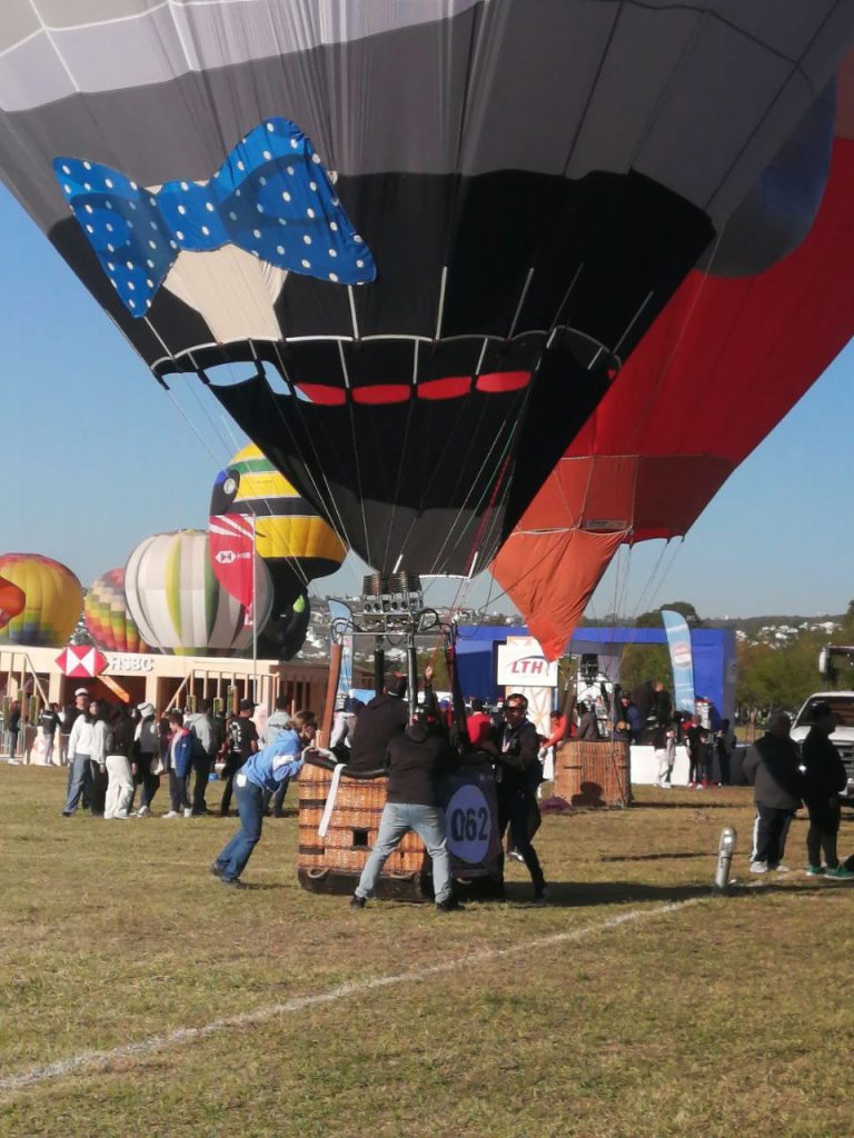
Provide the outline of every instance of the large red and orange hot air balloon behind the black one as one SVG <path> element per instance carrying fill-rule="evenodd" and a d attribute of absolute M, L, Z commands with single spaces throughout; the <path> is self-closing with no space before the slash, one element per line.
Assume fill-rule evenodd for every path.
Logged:
<path fill-rule="evenodd" d="M 807 236 L 764 272 L 683 282 L 499 553 L 493 572 L 549 657 L 617 547 L 684 535 L 854 335 L 854 56 L 838 88 Z"/>

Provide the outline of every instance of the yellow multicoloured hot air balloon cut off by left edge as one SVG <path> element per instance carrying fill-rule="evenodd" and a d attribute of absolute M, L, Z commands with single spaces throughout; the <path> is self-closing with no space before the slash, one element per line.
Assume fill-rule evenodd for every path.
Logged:
<path fill-rule="evenodd" d="M 83 608 L 83 589 L 71 569 L 40 553 L 3 553 L 0 575 L 25 596 L 0 638 L 32 648 L 65 644 Z"/>

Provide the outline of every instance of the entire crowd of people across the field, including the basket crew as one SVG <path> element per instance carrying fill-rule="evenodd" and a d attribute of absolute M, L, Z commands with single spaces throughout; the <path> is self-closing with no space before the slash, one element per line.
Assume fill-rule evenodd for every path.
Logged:
<path fill-rule="evenodd" d="M 676 743 L 684 742 L 690 786 L 712 783 L 713 754 L 716 781 L 730 782 L 736 736 L 729 720 L 715 721 L 711 706 L 681 717 L 660 683 L 649 682 L 631 694 L 618 691 L 605 724 L 592 702 L 580 701 L 567 714 L 552 711 L 547 734 L 539 733 L 528 719 L 527 699 L 522 693 L 511 693 L 498 709 L 470 699 L 462 729 L 454 726 L 450 708 L 436 700 L 430 669 L 424 686 L 424 702 L 413 718 L 402 677 L 367 703 L 346 700 L 335 714 L 330 747 L 338 761 L 363 776 L 387 775 L 377 841 L 351 899 L 355 908 L 363 908 L 371 898 L 386 859 L 409 831 L 421 838 L 432 858 L 437 908 L 450 912 L 458 907 L 441 786 L 445 775 L 460 764 L 492 765 L 502 849 L 508 835 L 510 855 L 528 869 L 535 901 L 548 897 L 533 844 L 540 825 L 537 798 L 541 784 L 553 776 L 556 750 L 567 741 L 610 735 L 618 741 L 650 742 L 658 762 L 658 785 L 664 787 L 672 785 Z M 7 731 L 19 725 L 19 706 L 13 704 Z M 261 838 L 263 818 L 282 815 L 288 785 L 317 731 L 312 712 L 291 715 L 284 699 L 277 700 L 262 732 L 254 714 L 254 702 L 245 699 L 228 717 L 214 715 L 207 700 L 195 712 L 173 710 L 158 716 L 151 703 L 110 707 L 90 699 L 88 688 L 77 688 L 73 704 L 63 709 L 47 706 L 38 724 L 46 760 L 52 761 L 58 739 L 57 760 L 68 768 L 63 816 L 84 808 L 106 820 L 149 817 L 165 778 L 169 809 L 163 817 L 198 817 L 210 811 L 206 793 L 219 766 L 223 787 L 215 809 L 227 816 L 236 798 L 240 830 L 214 859 L 211 872 L 223 885 L 240 888 L 240 875 Z M 807 873 L 854 877 L 854 869 L 841 864 L 837 852 L 838 795 L 847 776 L 830 740 L 834 727 L 831 708 L 816 704 L 810 734 L 798 748 L 789 735 L 789 717 L 778 712 L 770 717 L 765 734 L 747 750 L 742 773 L 754 786 L 756 806 L 753 873 L 786 872 L 789 826 L 805 805 L 810 817 Z"/>

